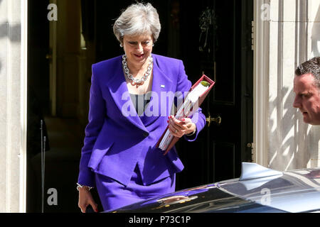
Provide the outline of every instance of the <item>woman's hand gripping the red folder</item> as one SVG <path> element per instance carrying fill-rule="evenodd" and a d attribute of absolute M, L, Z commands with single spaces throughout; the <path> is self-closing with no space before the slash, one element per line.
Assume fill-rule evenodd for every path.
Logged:
<path fill-rule="evenodd" d="M 197 128 L 196 124 L 191 121 L 191 118 L 181 118 L 178 120 L 174 116 L 169 116 L 168 123 L 170 133 L 178 138 L 193 133 Z"/>

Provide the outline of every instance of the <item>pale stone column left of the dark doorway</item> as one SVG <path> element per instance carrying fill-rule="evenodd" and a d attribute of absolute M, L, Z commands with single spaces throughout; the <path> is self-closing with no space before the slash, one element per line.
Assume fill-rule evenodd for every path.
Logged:
<path fill-rule="evenodd" d="M 26 211 L 26 2 L 0 0 L 0 212 Z"/>

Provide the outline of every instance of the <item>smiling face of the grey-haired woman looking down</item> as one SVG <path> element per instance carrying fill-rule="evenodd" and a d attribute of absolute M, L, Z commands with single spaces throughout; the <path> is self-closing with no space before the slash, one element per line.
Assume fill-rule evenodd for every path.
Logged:
<path fill-rule="evenodd" d="M 152 35 L 124 35 L 123 48 L 127 62 L 142 67 L 152 52 Z"/>

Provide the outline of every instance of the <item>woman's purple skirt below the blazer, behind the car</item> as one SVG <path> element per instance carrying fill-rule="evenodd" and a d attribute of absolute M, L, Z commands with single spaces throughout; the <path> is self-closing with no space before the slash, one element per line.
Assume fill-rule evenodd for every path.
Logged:
<path fill-rule="evenodd" d="M 144 185 L 137 165 L 127 186 L 100 174 L 95 174 L 95 182 L 104 211 L 111 211 L 144 199 L 174 192 L 176 175 Z"/>

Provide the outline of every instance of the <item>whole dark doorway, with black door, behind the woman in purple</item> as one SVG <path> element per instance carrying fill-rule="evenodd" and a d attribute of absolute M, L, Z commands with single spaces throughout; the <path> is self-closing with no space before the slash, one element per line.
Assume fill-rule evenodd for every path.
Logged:
<path fill-rule="evenodd" d="M 28 122 L 28 212 L 80 212 L 75 182 L 87 123 L 91 64 L 122 55 L 112 33 L 120 10 L 135 1 L 56 0 L 58 4 L 56 114 L 50 104 L 49 0 L 29 0 L 28 86 L 35 87 L 41 110 L 36 124 Z M 202 104 L 203 114 L 221 122 L 207 123 L 193 143 L 180 140 L 176 148 L 185 169 L 176 189 L 238 177 L 241 162 L 251 162 L 253 1 L 149 1 L 159 12 L 161 34 L 154 53 L 183 60 L 186 74 L 196 82 L 201 74 L 216 84 Z M 41 50 L 38 50 L 41 49 Z M 49 57 L 50 58 L 50 57 Z M 51 87 L 52 88 L 52 87 Z M 28 90 L 31 96 L 32 89 Z M 34 96 L 33 96 L 34 97 Z M 36 100 L 36 99 L 31 99 Z M 28 101 L 28 108 L 31 101 Z M 29 110 L 29 109 L 28 109 Z M 28 114 L 31 119 L 31 114 Z M 46 140 L 45 184 L 41 184 L 40 120 Z M 209 119 L 208 119 L 209 121 Z M 34 128 L 32 131 L 31 128 Z M 45 128 L 46 127 L 46 128 Z M 46 133 L 47 131 L 47 133 Z M 36 153 L 33 155 L 33 151 Z M 52 192 L 57 204 L 48 204 Z M 41 193 L 44 193 L 41 197 Z M 97 194 L 94 195 L 97 201 Z M 44 202 L 43 202 L 44 201 Z M 42 205 L 44 204 L 44 205 Z M 100 206 L 102 207 L 102 206 Z"/>

